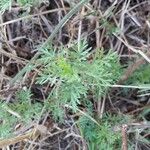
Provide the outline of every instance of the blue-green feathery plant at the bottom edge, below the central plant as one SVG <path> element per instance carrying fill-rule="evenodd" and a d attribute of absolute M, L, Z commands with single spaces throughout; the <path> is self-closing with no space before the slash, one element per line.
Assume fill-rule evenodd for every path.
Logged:
<path fill-rule="evenodd" d="M 119 150 L 121 148 L 121 134 L 113 131 L 111 119 L 118 120 L 117 117 L 107 116 L 97 125 L 85 116 L 80 117 L 78 127 L 88 143 L 89 150 Z"/>

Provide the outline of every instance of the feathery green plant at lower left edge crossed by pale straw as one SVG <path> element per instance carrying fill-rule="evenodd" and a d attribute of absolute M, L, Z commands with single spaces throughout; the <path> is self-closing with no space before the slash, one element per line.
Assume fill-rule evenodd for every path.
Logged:
<path fill-rule="evenodd" d="M 21 90 L 16 93 L 13 103 L 0 103 L 0 138 L 13 136 L 17 123 L 25 126 L 40 117 L 43 106 L 31 103 L 31 92 Z"/>

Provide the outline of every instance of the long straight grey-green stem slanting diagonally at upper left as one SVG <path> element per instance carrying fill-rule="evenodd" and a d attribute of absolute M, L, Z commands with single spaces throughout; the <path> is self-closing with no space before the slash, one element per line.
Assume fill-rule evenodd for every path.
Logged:
<path fill-rule="evenodd" d="M 59 29 L 62 28 L 65 25 L 65 23 L 88 1 L 89 0 L 80 1 L 68 14 L 66 14 L 65 17 L 56 26 L 49 38 L 45 41 L 45 43 L 42 44 L 42 46 L 39 49 L 43 49 L 48 44 L 51 44 L 53 38 L 56 36 Z M 20 79 L 24 75 L 24 73 L 33 69 L 32 64 L 34 64 L 34 61 L 39 57 L 39 55 L 40 53 L 38 52 L 34 55 L 30 62 L 9 82 L 10 86 L 12 86 L 18 79 Z"/>

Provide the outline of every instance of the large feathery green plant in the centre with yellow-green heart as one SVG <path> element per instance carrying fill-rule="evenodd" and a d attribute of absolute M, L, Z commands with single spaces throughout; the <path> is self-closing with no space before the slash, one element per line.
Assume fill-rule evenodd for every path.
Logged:
<path fill-rule="evenodd" d="M 91 51 L 85 40 L 80 48 L 77 43 L 59 49 L 43 48 L 37 64 L 42 64 L 37 83 L 50 83 L 52 87 L 46 103 L 54 118 L 63 116 L 65 104 L 76 111 L 81 101 L 88 100 L 89 92 L 97 100 L 120 76 L 117 54 Z"/>

